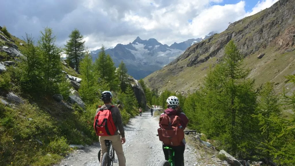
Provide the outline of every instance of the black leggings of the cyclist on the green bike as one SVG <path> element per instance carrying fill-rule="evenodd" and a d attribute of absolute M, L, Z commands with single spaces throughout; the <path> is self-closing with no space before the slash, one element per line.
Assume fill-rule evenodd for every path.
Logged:
<path fill-rule="evenodd" d="M 180 145 L 180 146 L 166 146 L 163 145 L 163 152 L 165 155 L 165 160 L 168 161 L 169 159 L 169 154 L 168 154 L 168 149 L 164 149 L 164 147 L 171 147 L 174 150 L 174 163 L 175 166 L 184 166 L 184 150 L 185 150 L 185 145 Z M 172 154 L 171 154 L 172 155 Z"/>

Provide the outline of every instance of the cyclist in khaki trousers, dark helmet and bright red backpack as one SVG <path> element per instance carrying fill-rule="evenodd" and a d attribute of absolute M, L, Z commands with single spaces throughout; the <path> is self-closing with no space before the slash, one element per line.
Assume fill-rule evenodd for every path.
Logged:
<path fill-rule="evenodd" d="M 99 136 L 101 146 L 100 161 L 102 161 L 103 154 L 107 152 L 104 140 L 109 140 L 116 151 L 119 166 L 125 166 L 126 160 L 122 147 L 122 144 L 126 142 L 124 127 L 119 108 L 111 104 L 112 97 L 113 95 L 110 91 L 101 93 L 101 100 L 104 102 L 104 105 L 99 106 L 94 118 L 94 129 L 96 135 Z"/>

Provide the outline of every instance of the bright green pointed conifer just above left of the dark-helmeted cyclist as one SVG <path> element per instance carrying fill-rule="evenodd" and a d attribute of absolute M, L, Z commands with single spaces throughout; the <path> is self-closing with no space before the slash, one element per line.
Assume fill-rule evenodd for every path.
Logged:
<path fill-rule="evenodd" d="M 88 103 L 92 103 L 97 99 L 98 82 L 97 74 L 94 71 L 94 65 L 92 64 L 92 58 L 89 53 L 89 49 L 86 48 L 85 56 L 80 62 L 79 67 L 81 73 L 81 87 L 79 93 L 82 99 Z"/>

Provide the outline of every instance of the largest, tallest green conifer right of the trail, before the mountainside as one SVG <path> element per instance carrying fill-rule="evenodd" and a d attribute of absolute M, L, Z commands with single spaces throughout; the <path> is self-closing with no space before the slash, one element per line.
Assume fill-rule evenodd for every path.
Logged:
<path fill-rule="evenodd" d="M 220 65 L 205 80 L 205 129 L 222 142 L 222 147 L 239 157 L 254 151 L 251 140 L 257 136 L 254 80 L 247 79 L 248 69 L 242 68 L 243 56 L 231 40 L 225 47 Z"/>

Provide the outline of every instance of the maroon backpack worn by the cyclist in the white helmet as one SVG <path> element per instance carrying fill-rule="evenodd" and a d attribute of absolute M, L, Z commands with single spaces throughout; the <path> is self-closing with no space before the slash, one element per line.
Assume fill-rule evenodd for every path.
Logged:
<path fill-rule="evenodd" d="M 159 140 L 165 145 L 179 146 L 184 138 L 184 129 L 179 128 L 180 117 L 177 115 L 167 115 L 160 117 L 158 128 Z"/>

